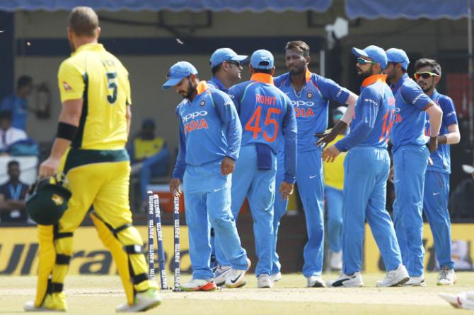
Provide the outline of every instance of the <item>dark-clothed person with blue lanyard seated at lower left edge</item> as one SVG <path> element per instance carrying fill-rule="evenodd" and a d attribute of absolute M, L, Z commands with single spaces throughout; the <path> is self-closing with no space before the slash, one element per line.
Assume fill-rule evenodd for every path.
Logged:
<path fill-rule="evenodd" d="M 20 181 L 20 164 L 8 162 L 8 182 L 0 186 L 0 222 L 27 222 L 25 196 L 28 184 Z"/>

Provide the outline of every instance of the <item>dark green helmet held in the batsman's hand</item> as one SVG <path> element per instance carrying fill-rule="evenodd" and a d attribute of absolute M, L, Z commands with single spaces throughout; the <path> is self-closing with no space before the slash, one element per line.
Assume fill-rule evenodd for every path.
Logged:
<path fill-rule="evenodd" d="M 66 211 L 69 198 L 64 174 L 37 179 L 26 196 L 26 212 L 37 224 L 54 225 Z"/>

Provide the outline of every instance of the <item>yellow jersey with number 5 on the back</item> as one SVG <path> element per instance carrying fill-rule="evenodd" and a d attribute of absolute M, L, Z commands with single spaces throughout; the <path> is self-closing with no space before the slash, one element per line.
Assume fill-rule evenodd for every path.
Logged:
<path fill-rule="evenodd" d="M 102 44 L 84 44 L 58 71 L 61 102 L 83 99 L 79 132 L 71 148 L 120 150 L 127 142 L 131 105 L 127 69 Z"/>

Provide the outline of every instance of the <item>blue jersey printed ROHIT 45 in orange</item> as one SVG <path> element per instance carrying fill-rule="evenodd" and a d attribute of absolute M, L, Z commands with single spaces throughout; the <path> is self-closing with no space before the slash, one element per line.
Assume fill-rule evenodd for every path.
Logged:
<path fill-rule="evenodd" d="M 284 181 L 296 177 L 296 117 L 291 100 L 276 88 L 270 74 L 255 73 L 229 90 L 242 123 L 242 145 L 263 143 L 277 154 L 284 139 Z"/>

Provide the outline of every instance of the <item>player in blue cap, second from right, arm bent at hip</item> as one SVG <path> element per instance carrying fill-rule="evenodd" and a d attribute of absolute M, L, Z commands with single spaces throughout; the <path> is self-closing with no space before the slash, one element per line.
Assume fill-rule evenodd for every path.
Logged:
<path fill-rule="evenodd" d="M 402 49 L 387 50 L 388 67 L 384 73 L 393 85 L 395 121 L 391 133 L 393 142 L 393 222 L 403 264 L 410 280 L 405 285 L 426 285 L 423 273 L 424 248 L 422 204 L 424 174 L 429 153 L 437 149 L 437 138 L 443 112 L 424 94 L 420 86 L 407 74 L 407 54 Z M 424 136 L 426 115 L 431 132 L 429 142 Z"/>

